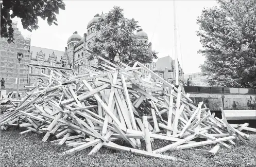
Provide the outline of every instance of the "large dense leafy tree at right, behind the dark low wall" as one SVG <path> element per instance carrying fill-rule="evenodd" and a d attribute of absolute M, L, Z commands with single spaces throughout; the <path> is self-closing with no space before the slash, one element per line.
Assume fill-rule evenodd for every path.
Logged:
<path fill-rule="evenodd" d="M 219 0 L 204 9 L 197 35 L 210 86 L 256 87 L 256 1 Z"/>

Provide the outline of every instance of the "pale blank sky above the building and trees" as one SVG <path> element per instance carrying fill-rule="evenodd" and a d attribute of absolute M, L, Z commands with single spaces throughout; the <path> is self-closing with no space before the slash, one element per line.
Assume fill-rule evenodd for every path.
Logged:
<path fill-rule="evenodd" d="M 67 39 L 77 31 L 83 36 L 87 32 L 87 24 L 94 15 L 107 13 L 114 6 L 124 9 L 127 18 L 134 18 L 148 35 L 152 49 L 158 57 L 174 55 L 174 12 L 173 1 L 67 1 L 65 10 L 57 14 L 58 26 L 49 26 L 47 21 L 39 19 L 39 29 L 30 33 L 24 30 L 21 23 L 18 28 L 25 36 L 31 37 L 31 46 L 64 51 Z M 196 30 L 199 26 L 196 19 L 203 8 L 217 6 L 216 1 L 176 1 L 176 23 L 178 38 L 178 60 L 185 74 L 200 72 L 199 65 L 204 57 L 197 51 L 202 49 Z M 19 18 L 14 18 L 19 21 Z M 156 60 L 155 60 L 156 61 Z"/>

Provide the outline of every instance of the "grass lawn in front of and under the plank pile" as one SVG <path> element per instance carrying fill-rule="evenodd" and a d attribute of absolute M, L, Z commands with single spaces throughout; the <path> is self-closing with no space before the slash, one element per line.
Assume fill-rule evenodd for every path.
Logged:
<path fill-rule="evenodd" d="M 256 135 L 251 135 L 252 138 L 246 140 L 246 144 L 238 139 L 232 150 L 221 146 L 215 156 L 208 152 L 191 149 L 163 153 L 186 160 L 186 162 L 174 162 L 113 151 L 105 147 L 94 156 L 87 155 L 92 147 L 63 156 L 58 153 L 72 147 L 58 147 L 42 142 L 43 135 L 35 133 L 20 135 L 22 131 L 18 129 L 1 132 L 0 166 L 256 166 Z M 125 143 L 122 144 L 125 145 Z M 169 143 L 155 140 L 152 149 L 155 150 L 167 144 Z M 195 149 L 211 150 L 213 146 L 214 144 L 199 146 Z"/>

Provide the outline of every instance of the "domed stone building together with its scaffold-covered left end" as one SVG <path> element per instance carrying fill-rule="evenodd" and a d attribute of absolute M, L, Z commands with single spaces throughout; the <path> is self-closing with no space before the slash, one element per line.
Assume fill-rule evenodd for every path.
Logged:
<path fill-rule="evenodd" d="M 67 39 L 65 51 L 58 51 L 53 49 L 41 48 L 36 46 L 30 47 L 30 39 L 22 39 L 21 32 L 14 28 L 15 41 L 18 39 L 18 44 L 8 44 L 7 39 L 1 40 L 1 78 L 5 78 L 7 87 L 14 90 L 15 78 L 18 73 L 18 60 L 16 52 L 23 52 L 23 60 L 21 63 L 21 82 L 20 91 L 25 90 L 26 85 L 46 85 L 48 78 L 45 75 L 50 74 L 50 69 L 64 70 L 84 73 L 84 69 L 94 70 L 98 60 L 89 60 L 90 45 L 97 33 L 95 25 L 98 22 L 99 14 L 96 14 L 87 25 L 87 32 L 83 36 L 75 31 L 70 38 Z M 16 36 L 15 36 L 16 34 Z M 148 43 L 147 33 L 142 29 L 138 30 L 135 35 L 138 39 L 148 44 L 148 48 L 152 50 L 152 43 Z M 21 36 L 20 40 L 17 36 Z M 22 42 L 23 40 L 23 42 Z M 9 47 L 9 51 L 8 51 Z M 11 49 L 10 49 L 11 48 Z M 11 58 L 8 58 L 11 55 Z M 10 60 L 9 60 L 10 59 Z M 147 68 L 153 69 L 156 63 L 148 62 L 144 64 Z M 147 73 L 145 70 L 142 72 Z M 44 75 L 45 74 L 45 75 Z M 20 83 L 21 83 L 20 82 Z"/>

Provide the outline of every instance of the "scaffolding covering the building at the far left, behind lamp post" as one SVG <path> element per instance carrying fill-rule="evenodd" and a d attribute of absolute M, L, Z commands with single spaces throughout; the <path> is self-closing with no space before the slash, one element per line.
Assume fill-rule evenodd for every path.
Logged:
<path fill-rule="evenodd" d="M 5 88 L 7 93 L 16 91 L 16 78 L 18 78 L 19 61 L 17 52 L 23 53 L 23 59 L 20 64 L 20 84 L 19 91 L 26 91 L 24 86 L 28 85 L 29 75 L 29 55 L 30 55 L 30 37 L 23 36 L 17 27 L 17 22 L 12 23 L 14 30 L 14 44 L 9 44 L 7 38 L 1 38 L 0 54 L 0 78 L 5 79 Z"/>

